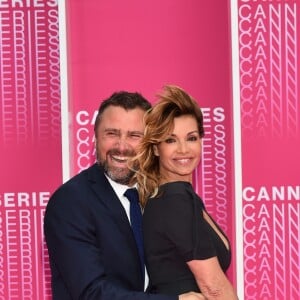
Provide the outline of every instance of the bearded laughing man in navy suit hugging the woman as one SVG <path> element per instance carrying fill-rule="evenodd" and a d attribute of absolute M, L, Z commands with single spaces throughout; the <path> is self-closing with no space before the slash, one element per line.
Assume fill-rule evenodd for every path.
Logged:
<path fill-rule="evenodd" d="M 143 136 L 150 103 L 138 93 L 105 100 L 95 122 L 97 163 L 63 184 L 46 208 L 54 300 L 175 300 L 144 293 L 144 278 L 123 195 L 132 171 L 128 158 Z M 196 300 L 188 293 L 180 300 Z"/>

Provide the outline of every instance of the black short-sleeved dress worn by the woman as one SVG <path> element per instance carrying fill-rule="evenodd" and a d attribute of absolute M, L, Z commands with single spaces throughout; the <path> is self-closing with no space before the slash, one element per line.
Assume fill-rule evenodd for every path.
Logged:
<path fill-rule="evenodd" d="M 204 219 L 203 210 L 203 201 L 188 182 L 166 183 L 157 197 L 148 200 L 143 230 L 150 292 L 179 295 L 199 291 L 186 264 L 193 259 L 216 256 L 223 271 L 228 269 L 230 249 Z"/>

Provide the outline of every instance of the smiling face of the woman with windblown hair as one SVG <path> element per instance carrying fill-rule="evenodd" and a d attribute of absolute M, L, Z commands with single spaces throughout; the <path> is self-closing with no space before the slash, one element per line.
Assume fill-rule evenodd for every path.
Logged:
<path fill-rule="evenodd" d="M 183 115 L 174 119 L 173 132 L 155 147 L 159 157 L 161 183 L 192 182 L 202 151 L 202 140 L 195 117 Z"/>

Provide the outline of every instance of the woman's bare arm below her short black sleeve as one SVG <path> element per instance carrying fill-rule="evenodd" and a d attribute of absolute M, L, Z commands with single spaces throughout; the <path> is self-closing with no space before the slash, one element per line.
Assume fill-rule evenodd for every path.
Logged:
<path fill-rule="evenodd" d="M 237 300 L 237 294 L 222 271 L 217 257 L 187 262 L 201 293 L 208 300 Z"/>

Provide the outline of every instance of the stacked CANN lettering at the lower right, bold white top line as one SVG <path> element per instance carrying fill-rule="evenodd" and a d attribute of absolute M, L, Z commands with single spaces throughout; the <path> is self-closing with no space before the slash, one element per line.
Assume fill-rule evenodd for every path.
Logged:
<path fill-rule="evenodd" d="M 299 299 L 300 185 L 247 186 L 243 201 L 247 299 Z"/>

